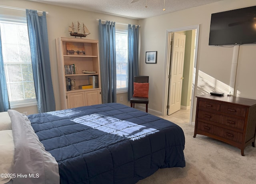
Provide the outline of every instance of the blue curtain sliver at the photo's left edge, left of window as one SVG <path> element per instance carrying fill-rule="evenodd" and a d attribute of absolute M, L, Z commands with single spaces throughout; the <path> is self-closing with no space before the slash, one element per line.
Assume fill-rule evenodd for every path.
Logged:
<path fill-rule="evenodd" d="M 8 100 L 8 91 L 4 73 L 4 60 L 2 55 L 2 42 L 0 31 L 0 112 L 7 111 L 8 109 L 10 109 L 10 105 Z"/>

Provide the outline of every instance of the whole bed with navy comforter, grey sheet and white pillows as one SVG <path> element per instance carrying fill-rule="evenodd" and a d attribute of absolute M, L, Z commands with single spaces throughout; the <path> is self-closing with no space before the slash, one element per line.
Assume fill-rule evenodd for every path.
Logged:
<path fill-rule="evenodd" d="M 133 184 L 186 165 L 178 125 L 119 103 L 0 115 L 0 184 Z"/>

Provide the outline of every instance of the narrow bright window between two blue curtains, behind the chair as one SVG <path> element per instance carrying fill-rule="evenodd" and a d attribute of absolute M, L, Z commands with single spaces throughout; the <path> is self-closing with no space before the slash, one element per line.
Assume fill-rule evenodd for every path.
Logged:
<path fill-rule="evenodd" d="M 116 91 L 128 90 L 128 30 L 116 30 Z"/>

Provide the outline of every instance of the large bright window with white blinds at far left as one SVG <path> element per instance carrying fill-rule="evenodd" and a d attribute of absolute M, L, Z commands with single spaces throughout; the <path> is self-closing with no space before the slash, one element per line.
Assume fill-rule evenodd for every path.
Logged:
<path fill-rule="evenodd" d="M 0 17 L 2 55 L 11 108 L 36 105 L 26 18 Z"/>

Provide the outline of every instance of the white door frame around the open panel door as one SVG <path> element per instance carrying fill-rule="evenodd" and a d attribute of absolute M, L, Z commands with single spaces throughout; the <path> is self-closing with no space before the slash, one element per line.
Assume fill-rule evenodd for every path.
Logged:
<path fill-rule="evenodd" d="M 192 98 L 191 98 L 191 107 L 190 107 L 190 124 L 192 124 L 192 114 L 193 114 L 193 105 L 194 105 L 194 94 L 195 94 L 195 86 L 197 86 L 197 78 L 198 78 L 198 69 L 197 69 L 197 56 L 198 56 L 198 40 L 199 40 L 199 31 L 200 31 L 200 24 L 193 25 L 193 26 L 185 26 L 180 28 L 172 28 L 166 30 L 166 51 L 165 51 L 165 59 L 164 59 L 164 65 L 166 66 L 164 71 L 164 87 L 165 90 L 163 91 L 163 107 L 162 112 L 163 115 L 167 115 L 167 100 L 168 100 L 168 70 L 170 68 L 170 62 L 168 61 L 168 58 L 170 58 L 170 51 L 168 50 L 169 46 L 169 40 L 168 35 L 170 32 L 180 32 L 180 31 L 188 31 L 188 30 L 197 30 L 196 34 L 196 50 L 194 55 L 194 73 L 192 81 L 194 81 L 192 85 Z"/>

